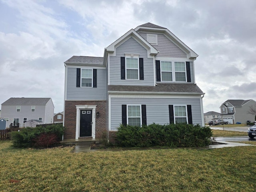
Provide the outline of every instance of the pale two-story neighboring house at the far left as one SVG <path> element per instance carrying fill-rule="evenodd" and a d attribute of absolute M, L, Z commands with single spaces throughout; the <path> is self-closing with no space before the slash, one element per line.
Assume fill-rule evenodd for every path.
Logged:
<path fill-rule="evenodd" d="M 28 120 L 53 123 L 54 105 L 51 98 L 10 98 L 2 103 L 1 110 L 7 127 L 25 127 Z"/>

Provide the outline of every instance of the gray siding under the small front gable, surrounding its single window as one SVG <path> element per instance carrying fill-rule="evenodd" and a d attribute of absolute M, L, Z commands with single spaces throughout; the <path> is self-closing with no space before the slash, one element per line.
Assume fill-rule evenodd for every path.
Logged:
<path fill-rule="evenodd" d="M 124 80 L 121 79 L 121 62 L 120 58 L 124 54 L 133 53 L 140 54 L 139 58 L 143 58 L 144 64 L 144 80 Z M 134 38 L 129 38 L 126 42 L 116 48 L 116 56 L 110 56 L 110 84 L 111 85 L 154 85 L 154 66 L 153 58 L 148 58 L 147 50 L 142 47 Z"/>

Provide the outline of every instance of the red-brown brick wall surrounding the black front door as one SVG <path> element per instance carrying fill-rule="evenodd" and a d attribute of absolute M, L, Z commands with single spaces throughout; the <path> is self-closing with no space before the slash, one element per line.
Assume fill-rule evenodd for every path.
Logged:
<path fill-rule="evenodd" d="M 102 138 L 102 133 L 106 130 L 106 101 L 65 101 L 64 139 L 76 138 L 76 105 L 96 105 L 95 137 Z"/>

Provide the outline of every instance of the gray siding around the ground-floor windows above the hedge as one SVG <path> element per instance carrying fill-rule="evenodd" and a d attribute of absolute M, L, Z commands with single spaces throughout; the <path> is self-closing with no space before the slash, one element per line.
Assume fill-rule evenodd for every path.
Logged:
<path fill-rule="evenodd" d="M 111 130 L 122 124 L 122 104 L 146 105 L 147 124 L 169 124 L 169 105 L 191 105 L 193 124 L 202 126 L 200 99 L 111 98 Z"/>

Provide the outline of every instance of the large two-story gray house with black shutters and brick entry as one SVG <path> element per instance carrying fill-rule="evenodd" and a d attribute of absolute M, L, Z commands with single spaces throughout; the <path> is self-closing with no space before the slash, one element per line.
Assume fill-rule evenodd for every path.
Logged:
<path fill-rule="evenodd" d="M 120 124 L 186 122 L 204 126 L 195 83 L 198 55 L 167 28 L 146 23 L 104 50 L 65 64 L 64 139 L 110 140 Z"/>

